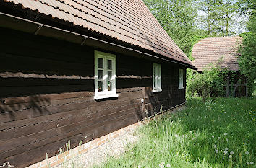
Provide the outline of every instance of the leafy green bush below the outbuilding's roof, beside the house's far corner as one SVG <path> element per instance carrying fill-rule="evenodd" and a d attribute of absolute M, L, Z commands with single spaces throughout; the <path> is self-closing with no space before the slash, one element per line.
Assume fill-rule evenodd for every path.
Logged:
<path fill-rule="evenodd" d="M 192 77 L 187 80 L 187 97 L 202 96 L 203 100 L 207 97 L 223 97 L 227 72 L 218 66 L 205 69 L 202 74 L 192 72 Z"/>

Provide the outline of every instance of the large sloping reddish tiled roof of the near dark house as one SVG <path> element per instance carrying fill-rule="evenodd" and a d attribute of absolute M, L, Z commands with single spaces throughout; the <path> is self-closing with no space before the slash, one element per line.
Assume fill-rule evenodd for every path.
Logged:
<path fill-rule="evenodd" d="M 192 65 L 142 0 L 4 0 Z"/>

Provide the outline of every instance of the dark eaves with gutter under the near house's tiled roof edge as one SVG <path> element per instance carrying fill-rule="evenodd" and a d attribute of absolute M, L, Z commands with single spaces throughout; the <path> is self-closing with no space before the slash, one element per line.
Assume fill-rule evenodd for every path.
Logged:
<path fill-rule="evenodd" d="M 34 35 L 41 35 L 44 37 L 51 37 L 58 40 L 65 40 L 71 43 L 77 43 L 80 45 L 88 45 L 93 48 L 100 48 L 103 50 L 108 50 L 115 53 L 125 53 L 129 56 L 137 56 L 140 58 L 150 58 L 155 61 L 167 61 L 169 63 L 176 63 L 180 66 L 186 68 L 197 69 L 195 66 L 191 66 L 187 63 L 182 63 L 179 61 L 174 61 L 168 58 L 161 58 L 154 56 L 150 53 L 145 53 L 140 50 L 135 50 L 133 48 L 127 48 L 125 46 L 110 43 L 105 40 L 101 40 L 95 37 L 90 37 L 88 35 L 82 35 L 77 32 L 72 32 L 69 30 L 64 30 L 59 27 L 53 27 L 51 25 L 45 25 L 39 22 L 35 22 L 29 19 L 24 19 L 21 17 L 16 17 L 12 14 L 5 14 L 0 12 L 0 27 L 9 28 L 12 30 L 19 30 L 22 32 L 27 32 Z"/>

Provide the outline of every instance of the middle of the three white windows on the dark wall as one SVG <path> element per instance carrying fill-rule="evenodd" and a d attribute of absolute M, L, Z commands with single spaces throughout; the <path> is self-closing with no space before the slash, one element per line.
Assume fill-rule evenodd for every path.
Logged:
<path fill-rule="evenodd" d="M 161 65 L 153 63 L 153 92 L 161 92 Z"/>

